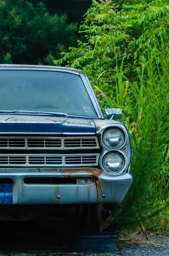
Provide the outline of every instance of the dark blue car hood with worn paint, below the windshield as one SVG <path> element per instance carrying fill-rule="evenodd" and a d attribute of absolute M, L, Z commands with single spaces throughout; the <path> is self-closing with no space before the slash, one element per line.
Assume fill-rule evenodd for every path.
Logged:
<path fill-rule="evenodd" d="M 95 134 L 90 119 L 0 114 L 0 133 Z"/>

